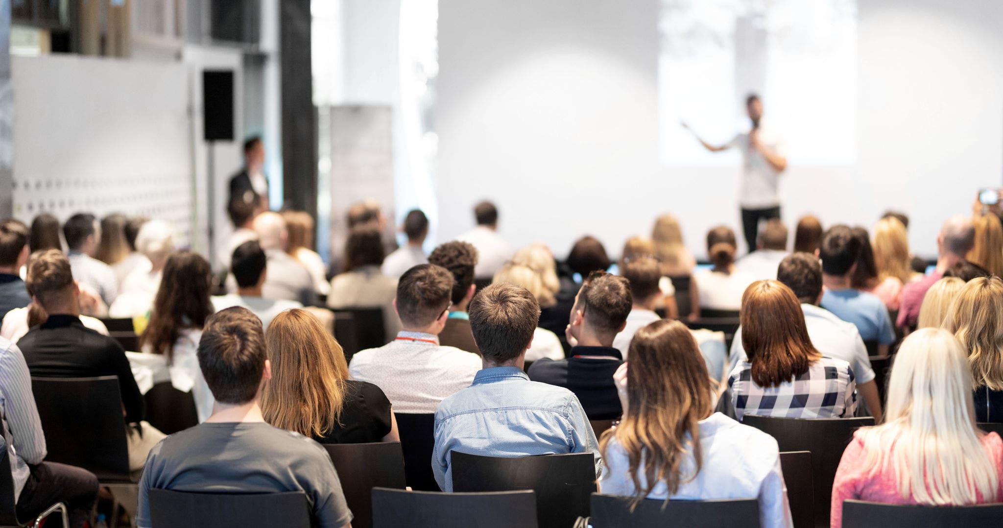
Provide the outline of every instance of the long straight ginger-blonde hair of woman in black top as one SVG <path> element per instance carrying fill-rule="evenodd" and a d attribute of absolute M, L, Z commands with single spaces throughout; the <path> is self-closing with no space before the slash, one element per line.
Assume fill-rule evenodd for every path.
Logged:
<path fill-rule="evenodd" d="M 338 341 L 316 316 L 293 308 L 265 332 L 272 379 L 265 384 L 265 421 L 306 437 L 322 437 L 339 423 L 348 363 Z"/>

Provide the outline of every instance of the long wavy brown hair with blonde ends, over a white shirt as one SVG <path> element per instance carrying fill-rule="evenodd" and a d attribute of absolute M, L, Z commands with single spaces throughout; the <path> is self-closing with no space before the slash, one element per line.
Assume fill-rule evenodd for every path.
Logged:
<path fill-rule="evenodd" d="M 699 422 L 714 411 L 710 376 L 696 339 L 683 323 L 657 320 L 637 331 L 630 343 L 627 409 L 623 421 L 603 434 L 606 457 L 610 440 L 627 453 L 636 494 L 632 507 L 665 482 L 671 497 L 694 479 L 703 465 Z M 688 437 L 688 438 L 687 438 Z M 682 474 L 692 449 L 694 472 Z M 644 486 L 638 475 L 644 465 Z"/>

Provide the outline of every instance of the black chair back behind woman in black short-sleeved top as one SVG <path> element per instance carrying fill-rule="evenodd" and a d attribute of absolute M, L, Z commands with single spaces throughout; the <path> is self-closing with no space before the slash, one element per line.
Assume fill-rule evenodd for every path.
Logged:
<path fill-rule="evenodd" d="M 373 444 L 324 444 L 341 480 L 352 526 L 369 528 L 373 488 L 404 489 L 404 455 L 399 442 Z"/>

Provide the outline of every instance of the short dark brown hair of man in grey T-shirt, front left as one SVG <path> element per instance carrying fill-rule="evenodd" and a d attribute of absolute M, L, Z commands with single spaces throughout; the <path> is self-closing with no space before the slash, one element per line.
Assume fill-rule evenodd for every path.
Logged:
<path fill-rule="evenodd" d="M 206 319 L 198 356 L 217 402 L 240 405 L 254 400 L 268 358 L 261 319 L 243 306 L 216 312 Z"/>

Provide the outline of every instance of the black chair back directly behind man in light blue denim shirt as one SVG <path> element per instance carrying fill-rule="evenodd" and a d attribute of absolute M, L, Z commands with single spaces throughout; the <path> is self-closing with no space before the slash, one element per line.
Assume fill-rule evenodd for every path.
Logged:
<path fill-rule="evenodd" d="M 544 527 L 570 527 L 589 516 L 589 497 L 596 492 L 592 453 L 503 458 L 453 451 L 450 456 L 453 491 L 534 490 Z"/>

